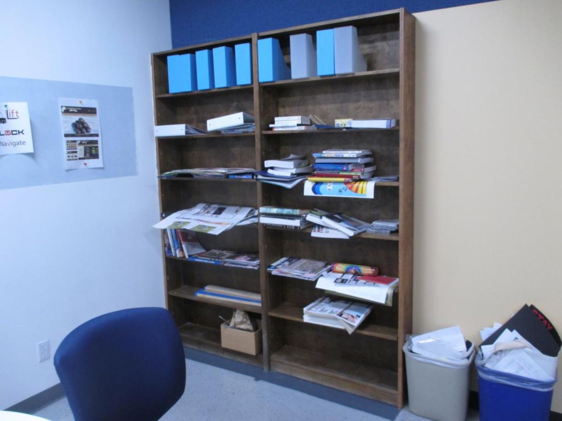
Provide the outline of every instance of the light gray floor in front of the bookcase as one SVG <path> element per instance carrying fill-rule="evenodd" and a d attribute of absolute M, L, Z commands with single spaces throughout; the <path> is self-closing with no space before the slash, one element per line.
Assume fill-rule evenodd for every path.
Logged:
<path fill-rule="evenodd" d="M 388 421 L 357 409 L 320 399 L 306 393 L 256 381 L 251 376 L 186 360 L 187 383 L 182 398 L 162 421 Z M 35 415 L 51 421 L 73 421 L 66 399 L 61 399 Z M 396 421 L 425 421 L 402 410 Z M 470 414 L 467 421 L 478 417 Z"/>

